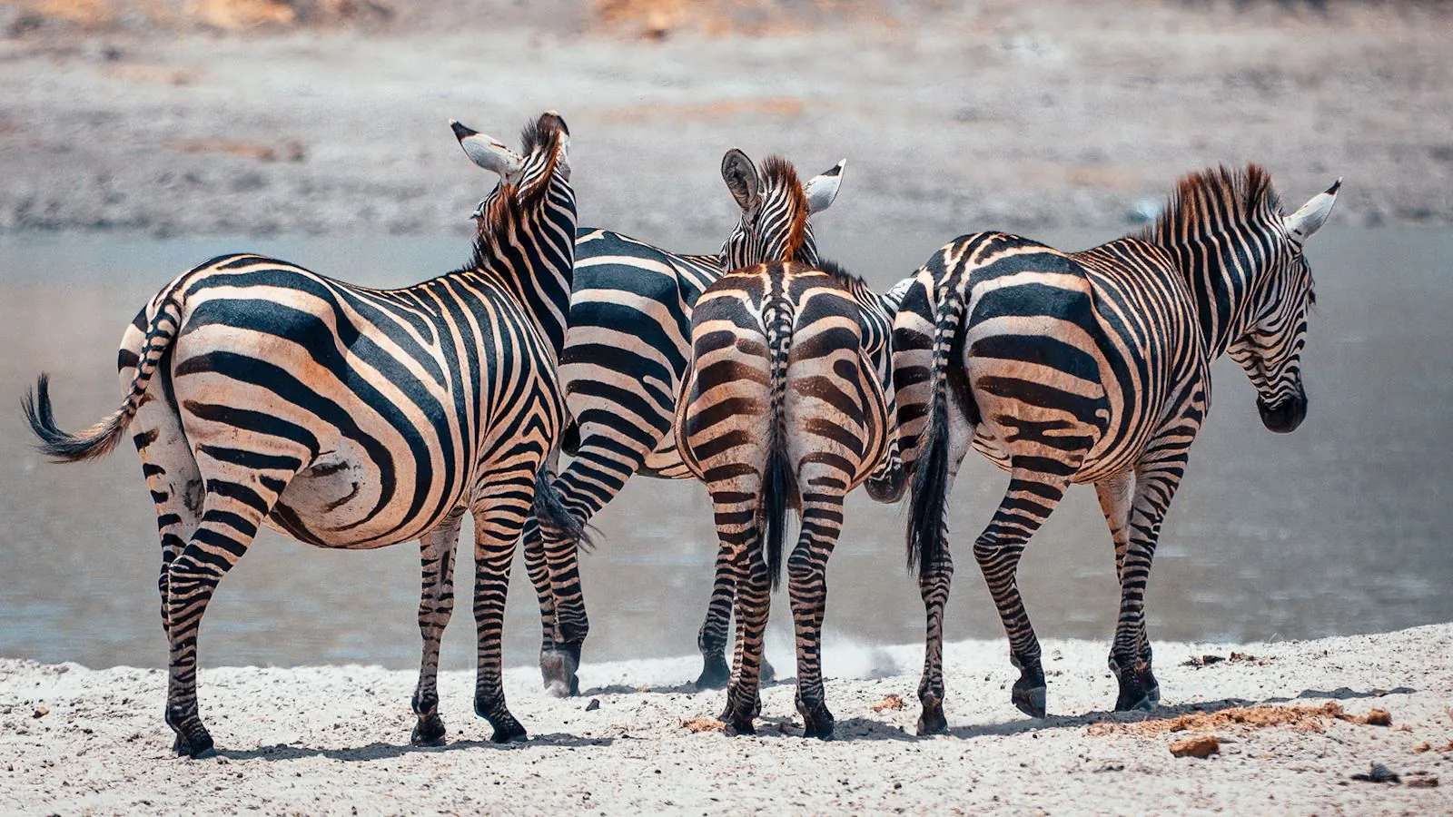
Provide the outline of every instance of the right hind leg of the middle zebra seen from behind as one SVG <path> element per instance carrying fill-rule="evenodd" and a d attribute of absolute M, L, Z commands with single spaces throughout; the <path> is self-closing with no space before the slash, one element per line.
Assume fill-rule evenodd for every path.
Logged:
<path fill-rule="evenodd" d="M 808 481 L 818 484 L 819 481 Z M 822 693 L 822 615 L 827 611 L 827 560 L 843 529 L 843 494 L 805 491 L 802 534 L 788 560 L 788 595 L 798 644 L 798 712 L 804 736 L 833 737 L 833 712 Z"/>

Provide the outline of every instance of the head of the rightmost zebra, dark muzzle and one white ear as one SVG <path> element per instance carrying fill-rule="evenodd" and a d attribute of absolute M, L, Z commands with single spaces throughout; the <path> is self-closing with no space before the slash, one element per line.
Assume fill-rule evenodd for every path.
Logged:
<path fill-rule="evenodd" d="M 1277 208 L 1266 231 L 1264 269 L 1252 278 L 1244 333 L 1226 347 L 1257 390 L 1261 424 L 1277 433 L 1293 432 L 1306 419 L 1302 347 L 1306 345 L 1306 314 L 1316 294 L 1302 250 L 1327 222 L 1341 183 L 1338 179 L 1292 215 L 1280 215 Z"/>

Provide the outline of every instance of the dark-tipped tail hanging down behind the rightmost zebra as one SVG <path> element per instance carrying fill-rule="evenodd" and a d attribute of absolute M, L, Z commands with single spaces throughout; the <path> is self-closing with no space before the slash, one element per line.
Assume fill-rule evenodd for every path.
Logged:
<path fill-rule="evenodd" d="M 928 371 L 928 422 L 918 440 L 908 518 L 908 571 L 918 574 L 943 557 L 943 515 L 949 493 L 949 363 L 962 331 L 963 294 L 950 281 L 939 298 Z"/>

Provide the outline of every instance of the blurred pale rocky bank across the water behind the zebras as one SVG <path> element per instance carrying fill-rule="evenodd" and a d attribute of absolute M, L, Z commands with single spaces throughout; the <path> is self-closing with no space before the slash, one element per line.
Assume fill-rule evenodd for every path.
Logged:
<path fill-rule="evenodd" d="M 453 116 L 570 122 L 581 222 L 734 220 L 726 148 L 849 158 L 837 228 L 1154 217 L 1260 161 L 1338 220 L 1453 222 L 1453 3 L 23 0 L 0 3 L 0 231 L 464 234 Z M 838 212 L 841 211 L 841 212 Z"/>

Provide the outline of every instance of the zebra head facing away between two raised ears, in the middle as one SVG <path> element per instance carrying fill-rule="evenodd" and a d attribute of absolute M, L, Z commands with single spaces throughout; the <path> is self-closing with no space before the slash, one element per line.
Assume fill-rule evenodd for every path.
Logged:
<path fill-rule="evenodd" d="M 844 158 L 804 185 L 782 157 L 767 157 L 758 172 L 745 153 L 737 148 L 726 151 L 722 180 L 741 208 L 741 221 L 722 244 L 726 269 L 777 260 L 817 266 L 817 243 L 808 218 L 827 209 L 837 198 L 846 164 Z"/>

